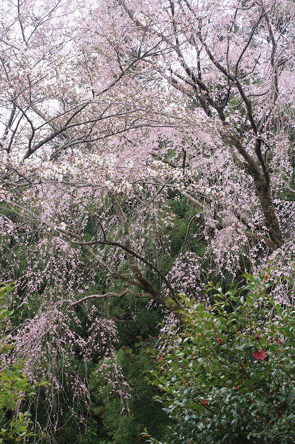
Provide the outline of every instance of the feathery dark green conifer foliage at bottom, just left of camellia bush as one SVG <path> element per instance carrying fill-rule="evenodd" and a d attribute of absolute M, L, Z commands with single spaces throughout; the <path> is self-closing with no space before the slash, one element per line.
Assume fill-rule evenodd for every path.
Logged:
<path fill-rule="evenodd" d="M 125 402 L 118 395 L 112 395 L 109 386 L 105 386 L 102 393 L 104 375 L 98 371 L 93 373 L 91 393 L 96 407 L 94 413 L 102 422 L 103 444 L 130 444 L 144 443 L 141 436 L 147 426 L 155 436 L 159 436 L 161 428 L 167 423 L 166 413 L 154 401 L 156 388 L 147 384 L 147 370 L 154 368 L 152 359 L 147 357 L 143 344 L 138 344 L 137 350 L 121 348 L 118 352 L 120 364 L 125 378 L 131 388 L 131 398 Z M 100 404 L 101 403 L 101 404 Z M 124 409 L 122 407 L 124 406 Z"/>

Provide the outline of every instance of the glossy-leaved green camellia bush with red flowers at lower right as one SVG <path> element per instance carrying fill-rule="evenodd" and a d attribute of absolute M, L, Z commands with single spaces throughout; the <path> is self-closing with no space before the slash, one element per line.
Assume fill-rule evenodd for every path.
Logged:
<path fill-rule="evenodd" d="M 247 278 L 211 287 L 211 306 L 184 300 L 184 330 L 152 371 L 165 443 L 294 442 L 294 309 L 274 304 L 267 275 Z"/>

